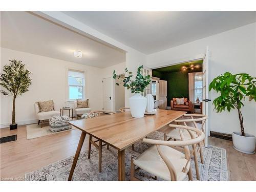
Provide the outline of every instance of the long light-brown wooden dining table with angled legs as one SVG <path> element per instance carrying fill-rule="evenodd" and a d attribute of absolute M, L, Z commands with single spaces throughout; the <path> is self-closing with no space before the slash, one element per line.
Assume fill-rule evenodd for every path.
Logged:
<path fill-rule="evenodd" d="M 145 115 L 143 118 L 133 118 L 131 112 L 103 115 L 96 118 L 80 119 L 69 123 L 81 131 L 74 161 L 69 174 L 71 181 L 76 163 L 86 135 L 109 144 L 118 153 L 118 180 L 125 180 L 125 148 L 145 138 L 152 132 L 186 114 L 182 111 L 156 110 L 155 115 Z"/>

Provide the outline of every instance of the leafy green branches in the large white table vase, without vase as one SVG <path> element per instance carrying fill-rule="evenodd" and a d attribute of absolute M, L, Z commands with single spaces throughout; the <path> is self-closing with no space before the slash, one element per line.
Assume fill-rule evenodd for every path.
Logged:
<path fill-rule="evenodd" d="M 151 76 L 143 76 L 141 74 L 141 69 L 143 69 L 143 66 L 140 66 L 138 68 L 137 76 L 135 77 L 134 80 L 131 79 L 131 77 L 133 77 L 133 73 L 129 72 L 127 68 L 124 69 L 124 73 L 122 73 L 121 75 L 117 75 L 116 71 L 113 71 L 113 78 L 120 79 L 120 83 L 116 83 L 116 85 L 119 86 L 119 84 L 123 84 L 123 86 L 127 89 L 130 89 L 132 93 L 143 92 L 144 89 L 148 86 L 148 84 L 150 84 Z"/>

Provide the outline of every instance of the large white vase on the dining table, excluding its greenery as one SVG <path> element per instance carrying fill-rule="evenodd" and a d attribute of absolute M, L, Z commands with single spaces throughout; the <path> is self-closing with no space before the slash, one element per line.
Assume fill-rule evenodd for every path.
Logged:
<path fill-rule="evenodd" d="M 141 118 L 144 117 L 147 99 L 139 93 L 129 98 L 130 111 L 133 117 Z"/>

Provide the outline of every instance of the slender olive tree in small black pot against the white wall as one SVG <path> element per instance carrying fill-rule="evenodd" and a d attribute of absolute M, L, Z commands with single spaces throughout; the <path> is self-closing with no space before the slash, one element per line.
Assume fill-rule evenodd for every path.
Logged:
<path fill-rule="evenodd" d="M 10 130 L 17 129 L 17 123 L 15 121 L 15 100 L 18 95 L 29 91 L 31 84 L 31 78 L 29 75 L 31 72 L 25 69 L 25 64 L 22 61 L 16 59 L 9 60 L 10 65 L 4 66 L 3 72 L 0 75 L 0 85 L 8 92 L 0 90 L 4 95 L 10 95 L 12 100 L 12 124 L 10 124 Z"/>

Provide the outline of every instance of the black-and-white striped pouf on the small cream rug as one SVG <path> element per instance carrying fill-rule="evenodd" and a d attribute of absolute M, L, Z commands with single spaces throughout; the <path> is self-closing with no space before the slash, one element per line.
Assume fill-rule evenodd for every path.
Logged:
<path fill-rule="evenodd" d="M 50 131 L 58 132 L 63 130 L 71 129 L 71 125 L 68 123 L 71 121 L 71 118 L 64 116 L 53 116 L 49 119 Z"/>

